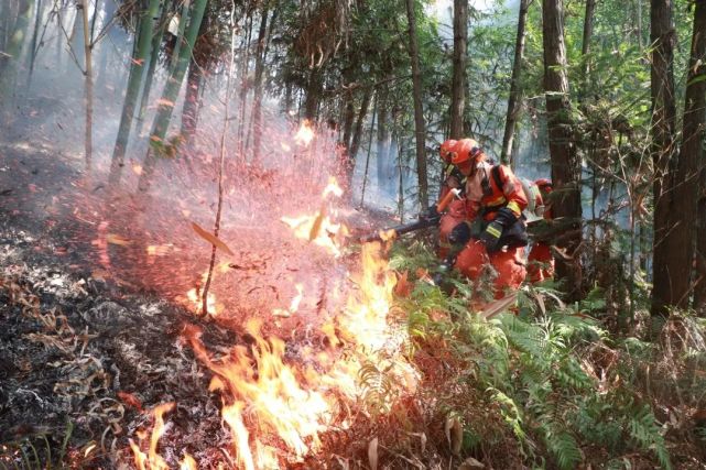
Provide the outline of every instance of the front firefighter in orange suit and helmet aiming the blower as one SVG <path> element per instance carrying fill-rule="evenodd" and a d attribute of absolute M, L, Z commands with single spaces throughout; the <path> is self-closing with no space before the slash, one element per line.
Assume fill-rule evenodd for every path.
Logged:
<path fill-rule="evenodd" d="M 526 276 L 522 210 L 528 199 L 522 183 L 508 166 L 492 165 L 473 139 L 459 140 L 448 161 L 466 177 L 466 219 L 448 233 L 452 244 L 463 245 L 454 266 L 475 281 L 484 265 L 491 264 L 497 272 L 495 297 L 502 298 Z"/>

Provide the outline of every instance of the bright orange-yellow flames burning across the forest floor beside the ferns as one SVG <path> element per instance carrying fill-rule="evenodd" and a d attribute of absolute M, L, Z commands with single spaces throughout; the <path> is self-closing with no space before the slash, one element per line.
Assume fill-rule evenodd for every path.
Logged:
<path fill-rule="evenodd" d="M 283 217 L 282 220 L 292 227 L 295 237 L 326 247 L 330 254 L 339 256 L 347 229 L 334 223 L 329 216 L 336 215 L 330 196 L 339 197 L 341 194 L 332 179 L 322 193 L 322 209 L 317 215 Z M 293 459 L 302 461 L 305 456 L 318 451 L 322 434 L 334 424 L 338 429 L 348 427 L 348 418 L 335 420 L 341 408 L 348 408 L 361 396 L 363 391 L 358 378 L 363 363 L 372 362 L 393 376 L 391 382 L 398 384 L 394 396 L 414 391 L 416 372 L 400 353 L 404 330 L 395 330 L 388 321 L 397 276 L 383 254 L 380 243 L 362 245 L 361 270 L 350 276 L 358 288 L 340 304 L 345 306 L 341 311 L 327 318 L 321 327 L 332 348 L 315 350 L 314 347 L 302 347 L 297 356 L 303 360 L 287 361 L 284 341 L 276 337 L 265 338 L 260 319 L 250 319 L 246 324 L 254 342 L 249 347 L 238 345 L 224 357 L 211 356 L 206 350 L 197 327 L 185 328 L 184 336 L 196 358 L 214 374 L 209 391 L 218 391 L 222 396 L 222 419 L 230 430 L 237 468 L 286 468 Z M 227 269 L 227 265 L 219 265 L 216 271 Z M 274 310 L 274 315 L 279 311 L 289 316 L 298 310 L 304 284 L 295 283 L 294 287 L 297 293 L 289 308 Z M 336 292 L 343 292 L 340 288 L 332 291 L 334 298 Z M 191 302 L 199 308 L 197 289 L 189 291 L 189 294 Z M 215 298 L 214 307 L 210 307 L 210 300 L 209 297 L 209 310 L 213 310 Z M 394 396 L 388 401 L 391 403 Z M 384 409 L 390 407 L 388 404 Z M 145 468 L 144 464 L 153 464 L 153 461 L 160 464 L 153 457 L 156 439 L 163 433 L 163 422 L 156 412 L 154 428 L 149 457 L 131 442 L 135 464 L 141 469 Z M 274 442 L 280 442 L 276 447 L 264 444 L 272 444 L 273 437 Z M 192 464 L 195 463 L 191 460 L 187 463 L 185 457 L 182 469 L 195 468 L 187 467 Z"/>

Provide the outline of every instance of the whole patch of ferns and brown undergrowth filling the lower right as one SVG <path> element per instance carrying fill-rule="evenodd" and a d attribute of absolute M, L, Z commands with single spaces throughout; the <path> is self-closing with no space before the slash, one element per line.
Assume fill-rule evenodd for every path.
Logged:
<path fill-rule="evenodd" d="M 469 310 L 474 286 L 430 282 L 422 269 L 430 258 L 421 244 L 398 247 L 391 265 L 413 284 L 397 303 L 424 375 L 421 394 L 433 397 L 437 423 L 455 416 L 464 427 L 460 448 L 447 449 L 459 461 L 704 468 L 694 463 L 703 462 L 706 435 L 696 416 L 706 404 L 703 319 L 673 313 L 649 341 L 596 319 L 600 291 L 564 305 L 544 284 L 522 288 L 517 315 L 486 320 Z"/>

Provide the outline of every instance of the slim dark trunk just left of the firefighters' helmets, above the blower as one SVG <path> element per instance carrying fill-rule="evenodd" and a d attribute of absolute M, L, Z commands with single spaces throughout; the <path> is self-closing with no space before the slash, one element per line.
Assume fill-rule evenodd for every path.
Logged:
<path fill-rule="evenodd" d="M 428 207 L 428 182 L 426 175 L 426 130 L 424 128 L 424 107 L 422 103 L 422 73 L 420 70 L 420 50 L 416 39 L 414 0 L 406 0 L 406 15 L 410 24 L 410 58 L 412 61 L 412 86 L 414 97 L 414 133 L 416 140 L 416 175 L 419 182 L 419 203 L 421 208 Z"/>

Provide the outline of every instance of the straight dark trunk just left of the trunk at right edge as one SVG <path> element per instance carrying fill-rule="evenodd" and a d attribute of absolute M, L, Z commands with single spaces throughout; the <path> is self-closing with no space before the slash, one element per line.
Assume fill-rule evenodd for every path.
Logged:
<path fill-rule="evenodd" d="M 688 205 L 676 200 L 674 190 L 677 162 L 675 159 L 676 107 L 674 102 L 674 40 L 672 1 L 652 0 L 650 8 L 652 46 L 652 161 L 654 167 L 654 239 L 652 264 L 652 315 L 667 315 L 669 306 L 686 306 L 688 300 L 691 260 L 685 262 L 682 248 L 686 228 L 674 210 Z"/>

